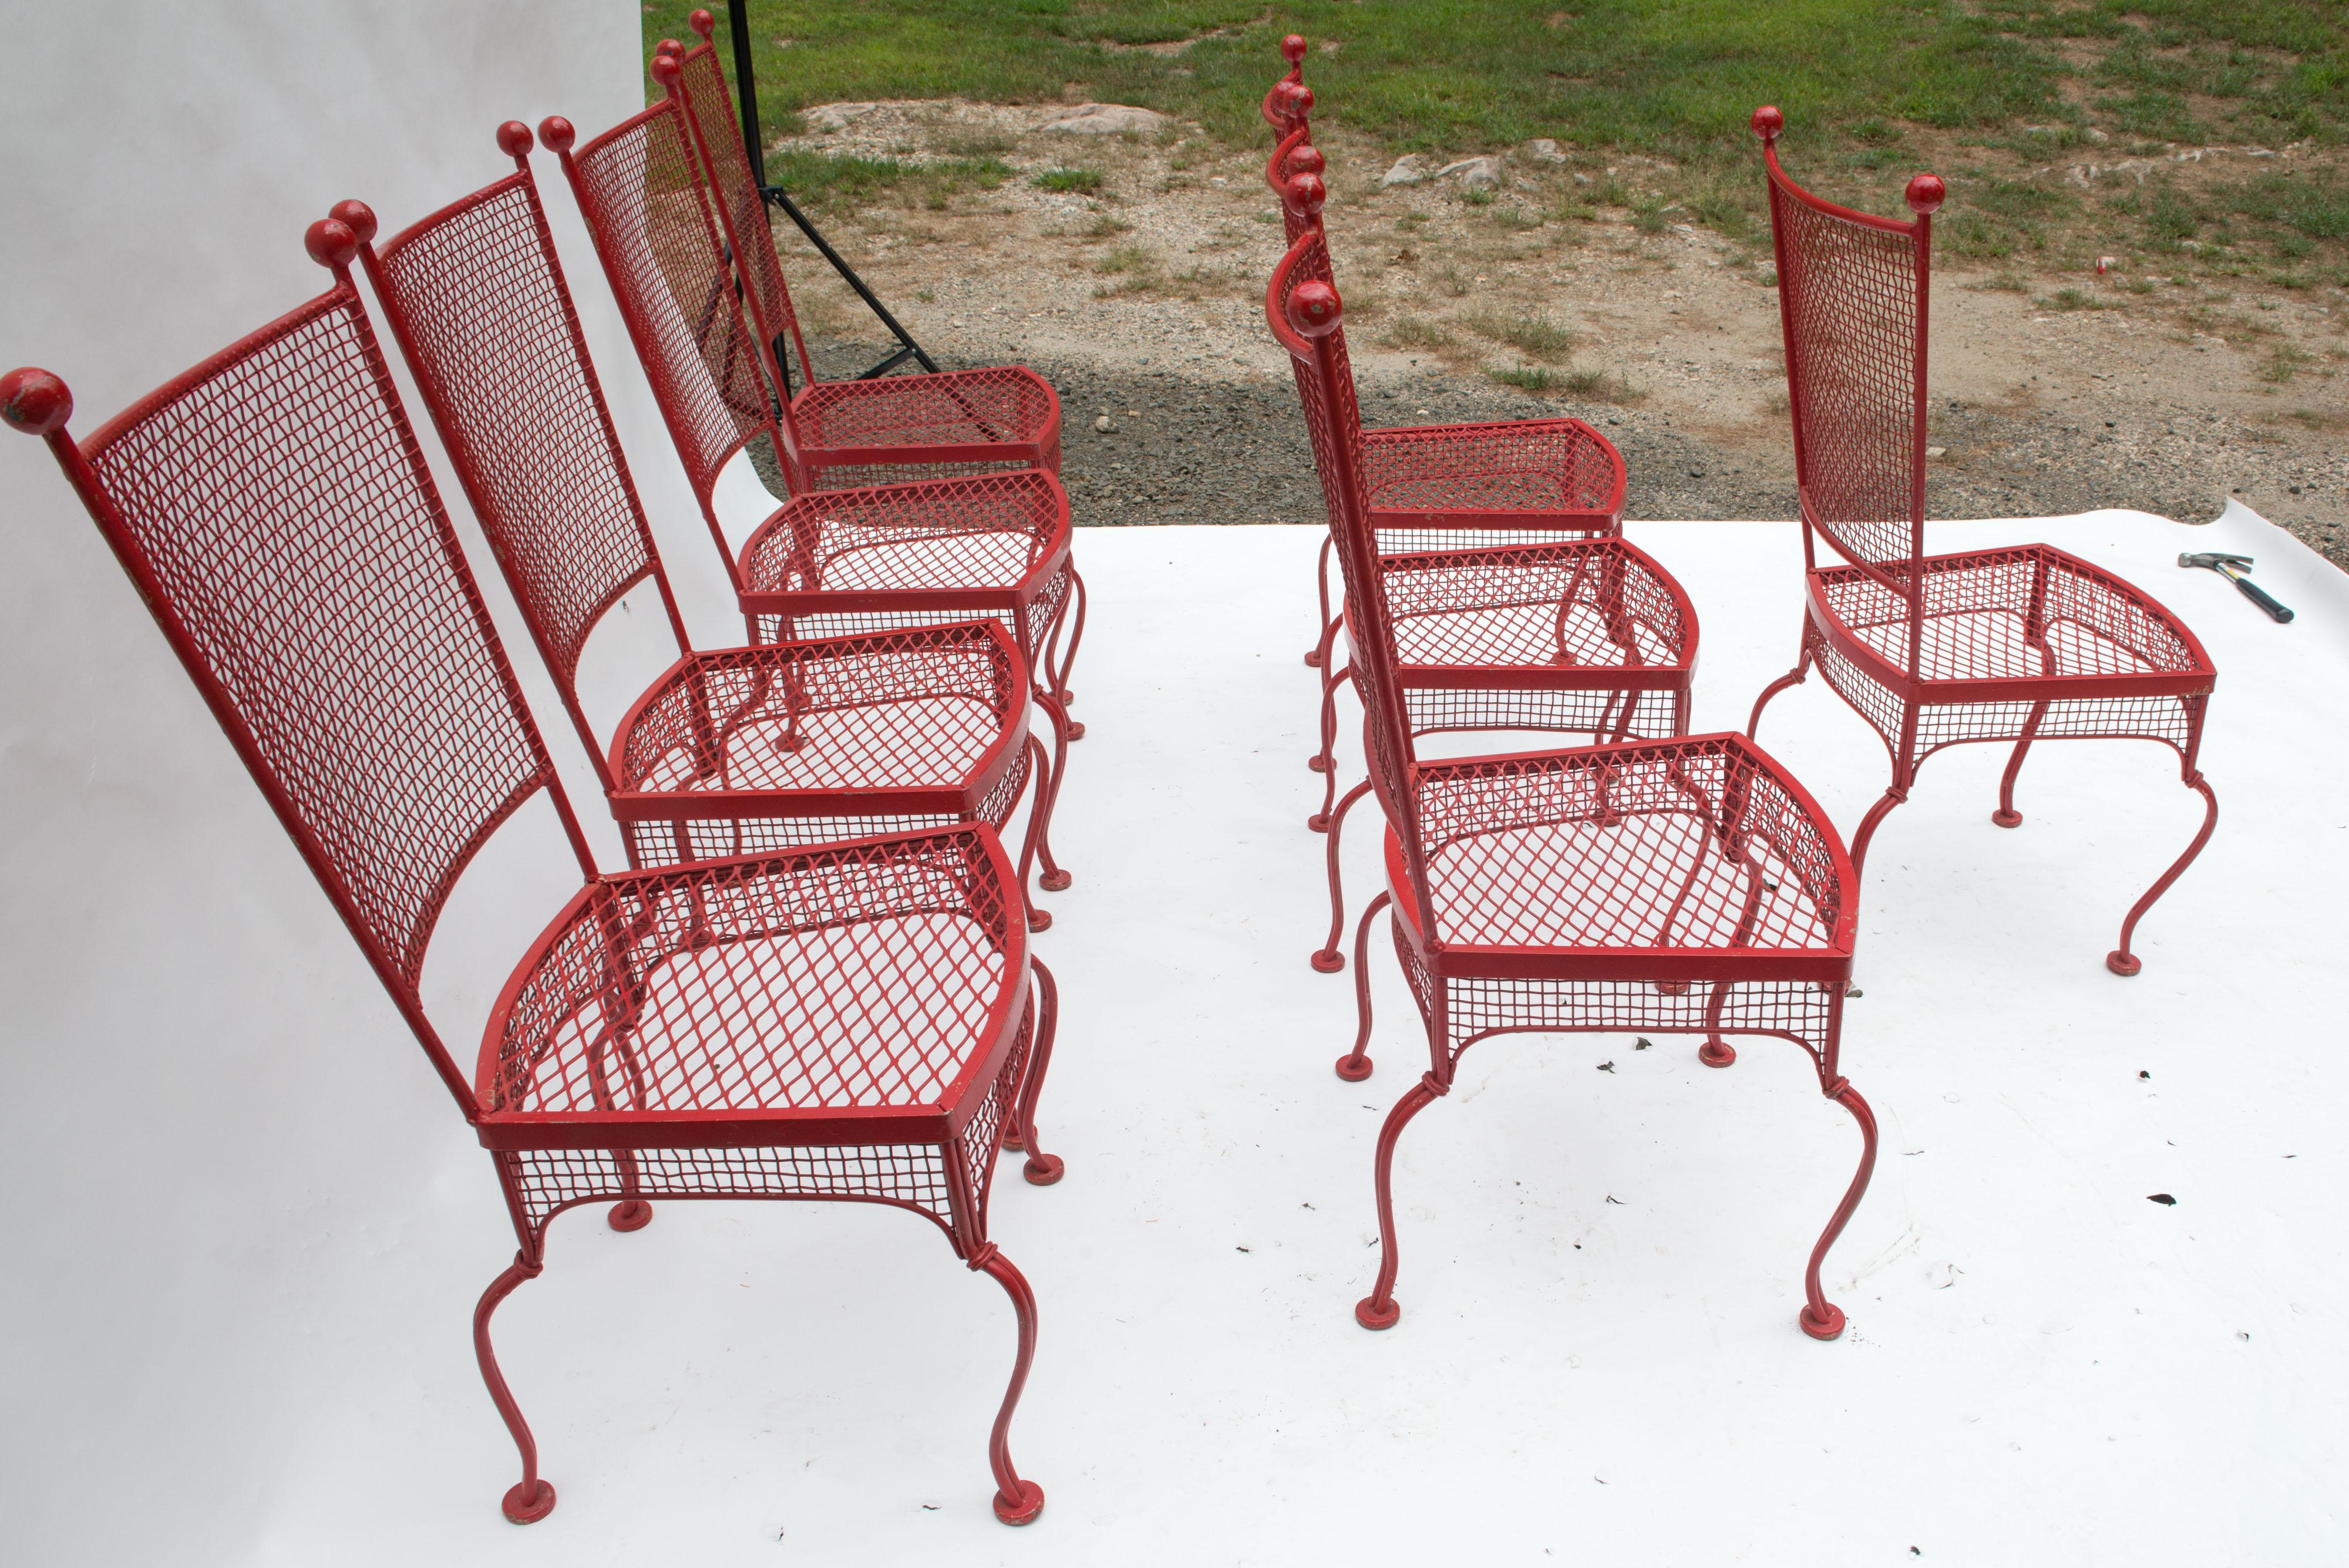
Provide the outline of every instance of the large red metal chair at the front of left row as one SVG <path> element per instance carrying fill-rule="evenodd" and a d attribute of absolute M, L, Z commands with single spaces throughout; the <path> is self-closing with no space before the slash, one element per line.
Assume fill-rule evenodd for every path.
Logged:
<path fill-rule="evenodd" d="M 310 251 L 334 289 L 87 444 L 47 371 L 0 378 L 0 415 L 47 437 L 491 1153 L 519 1251 L 472 1336 L 521 1453 L 507 1519 L 543 1519 L 554 1488 L 491 1314 L 543 1270 L 557 1214 L 611 1202 L 611 1225 L 634 1230 L 655 1197 L 862 1199 L 935 1221 L 1019 1319 L 989 1460 L 996 1514 L 1034 1519 L 1043 1493 L 1008 1432 L 1036 1298 L 987 1239 L 987 1197 L 998 1122 L 1029 1127 L 1055 995 L 1003 845 L 958 824 L 599 873 L 352 289 L 357 237 L 319 221 Z M 432 927 L 540 791 L 585 887 L 505 984 L 467 1073 L 420 998 Z"/>

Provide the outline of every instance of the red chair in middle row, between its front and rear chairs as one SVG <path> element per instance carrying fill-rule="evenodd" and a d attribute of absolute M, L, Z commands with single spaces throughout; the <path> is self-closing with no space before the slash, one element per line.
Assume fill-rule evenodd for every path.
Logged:
<path fill-rule="evenodd" d="M 1301 89 L 1299 89 L 1301 92 Z M 1313 171 L 1290 176 L 1283 211 L 1297 230 L 1297 272 L 1330 284 L 1330 251 L 1320 228 L 1327 190 Z M 1330 357 L 1346 378 L 1346 404 L 1332 418 L 1306 420 L 1313 460 L 1322 474 L 1322 502 L 1337 538 L 1339 498 L 1330 488 L 1332 441 L 1367 451 L 1372 432 L 1353 413 L 1353 366 L 1346 333 L 1327 333 Z M 1297 392 L 1311 411 L 1318 399 L 1313 371 L 1297 366 Z M 1609 448 L 1611 451 L 1611 448 Z M 1367 472 L 1367 465 L 1365 465 Z M 1367 493 L 1367 491 L 1365 491 Z M 1689 732 L 1689 683 L 1696 676 L 1696 608 L 1647 552 L 1618 533 L 1581 535 L 1539 545 L 1482 542 L 1496 535 L 1454 530 L 1426 533 L 1412 549 L 1393 552 L 1391 533 L 1372 509 L 1372 538 L 1395 636 L 1395 678 L 1414 737 L 1473 730 L 1536 730 L 1590 735 L 1593 739 L 1656 739 Z M 1452 549 L 1428 549 L 1426 540 L 1449 538 Z M 1470 547 L 1475 542 L 1475 547 Z M 1360 648 L 1362 629 L 1351 624 L 1351 606 L 1332 627 Z M 1322 683 L 1322 761 L 1337 742 L 1337 685 L 1348 667 L 1332 657 Z M 1367 699 L 1365 699 L 1367 702 Z M 1346 812 L 1369 793 L 1365 777 L 1344 798 L 1337 770 L 1327 770 L 1322 810 L 1306 826 L 1327 833 L 1330 937 L 1313 953 L 1313 967 L 1337 974 L 1346 967 L 1346 894 L 1339 845 Z"/>

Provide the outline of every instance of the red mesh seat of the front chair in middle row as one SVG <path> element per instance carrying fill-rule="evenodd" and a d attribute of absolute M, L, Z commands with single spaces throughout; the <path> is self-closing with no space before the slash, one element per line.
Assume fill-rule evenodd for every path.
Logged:
<path fill-rule="evenodd" d="M 1729 737 L 1421 765 L 1416 800 L 1445 946 L 1849 948 L 1830 836 Z M 1388 869 L 1409 906 L 1393 829 Z"/>

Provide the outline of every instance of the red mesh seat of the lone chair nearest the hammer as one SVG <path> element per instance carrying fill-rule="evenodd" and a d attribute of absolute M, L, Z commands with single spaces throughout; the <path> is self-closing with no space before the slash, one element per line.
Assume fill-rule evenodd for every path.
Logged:
<path fill-rule="evenodd" d="M 1818 573 L 1828 610 L 1896 669 L 1907 599 L 1860 568 Z M 2032 643 L 2032 603 L 2044 641 Z M 1924 559 L 1924 681 L 2210 674 L 2180 627 L 2128 582 L 2044 545 Z"/>

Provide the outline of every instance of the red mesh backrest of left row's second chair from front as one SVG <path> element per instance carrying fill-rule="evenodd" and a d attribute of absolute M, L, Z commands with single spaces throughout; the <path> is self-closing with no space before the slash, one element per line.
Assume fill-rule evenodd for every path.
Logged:
<path fill-rule="evenodd" d="M 399 232 L 376 293 L 566 699 L 580 650 L 660 570 L 529 171 Z"/>

